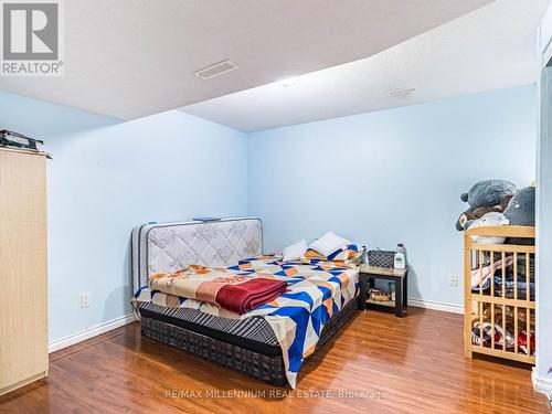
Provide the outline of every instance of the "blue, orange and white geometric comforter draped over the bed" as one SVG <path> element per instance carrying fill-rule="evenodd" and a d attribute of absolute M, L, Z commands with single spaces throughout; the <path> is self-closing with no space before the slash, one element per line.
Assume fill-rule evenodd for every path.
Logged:
<path fill-rule="evenodd" d="M 224 318 L 263 317 L 279 342 L 286 375 L 294 389 L 302 361 L 315 351 L 332 315 L 355 297 L 359 282 L 358 269 L 353 266 L 318 259 L 283 263 L 276 256 L 241 261 L 236 266 L 217 272 L 232 277 L 257 278 L 262 275 L 286 282 L 287 288 L 274 300 L 240 315 L 215 304 L 203 304 L 198 297 L 180 296 L 177 290 L 161 291 L 159 285 L 151 284 L 153 275 L 150 286 L 138 290 L 132 301 L 201 309 Z"/>

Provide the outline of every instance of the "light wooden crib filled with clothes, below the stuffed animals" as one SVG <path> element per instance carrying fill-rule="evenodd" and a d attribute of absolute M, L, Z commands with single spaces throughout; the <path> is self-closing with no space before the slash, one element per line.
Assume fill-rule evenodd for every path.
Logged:
<path fill-rule="evenodd" d="M 471 236 L 516 237 L 532 245 L 478 244 Z M 534 364 L 534 227 L 503 225 L 465 232 L 466 357 L 478 352 Z"/>

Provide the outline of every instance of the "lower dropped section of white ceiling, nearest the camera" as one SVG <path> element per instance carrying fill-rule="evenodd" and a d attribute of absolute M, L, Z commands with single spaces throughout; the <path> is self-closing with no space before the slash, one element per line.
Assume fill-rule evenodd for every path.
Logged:
<path fill-rule="evenodd" d="M 67 0 L 65 75 L 3 77 L 0 89 L 131 119 L 363 59 L 490 1 Z M 240 68 L 209 81 L 192 74 L 225 59 Z M 233 118 L 203 108 L 191 110 Z M 275 112 L 253 124 L 240 114 L 224 123 L 302 120 Z"/>

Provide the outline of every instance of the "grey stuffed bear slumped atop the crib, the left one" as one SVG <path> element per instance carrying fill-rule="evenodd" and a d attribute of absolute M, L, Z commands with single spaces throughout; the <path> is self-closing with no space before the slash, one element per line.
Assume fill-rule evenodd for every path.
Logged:
<path fill-rule="evenodd" d="M 456 221 L 456 230 L 468 229 L 473 220 L 480 219 L 489 212 L 502 212 L 516 191 L 516 184 L 506 180 L 476 182 L 468 192 L 460 195 L 460 200 L 467 202 L 469 209 Z"/>

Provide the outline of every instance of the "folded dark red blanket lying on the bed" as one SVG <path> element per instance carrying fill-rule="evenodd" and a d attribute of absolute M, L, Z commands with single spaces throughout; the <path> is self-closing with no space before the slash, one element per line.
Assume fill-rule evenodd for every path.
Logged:
<path fill-rule="evenodd" d="M 254 278 L 235 285 L 225 285 L 216 294 L 216 302 L 240 315 L 268 304 L 286 291 L 284 280 Z"/>

